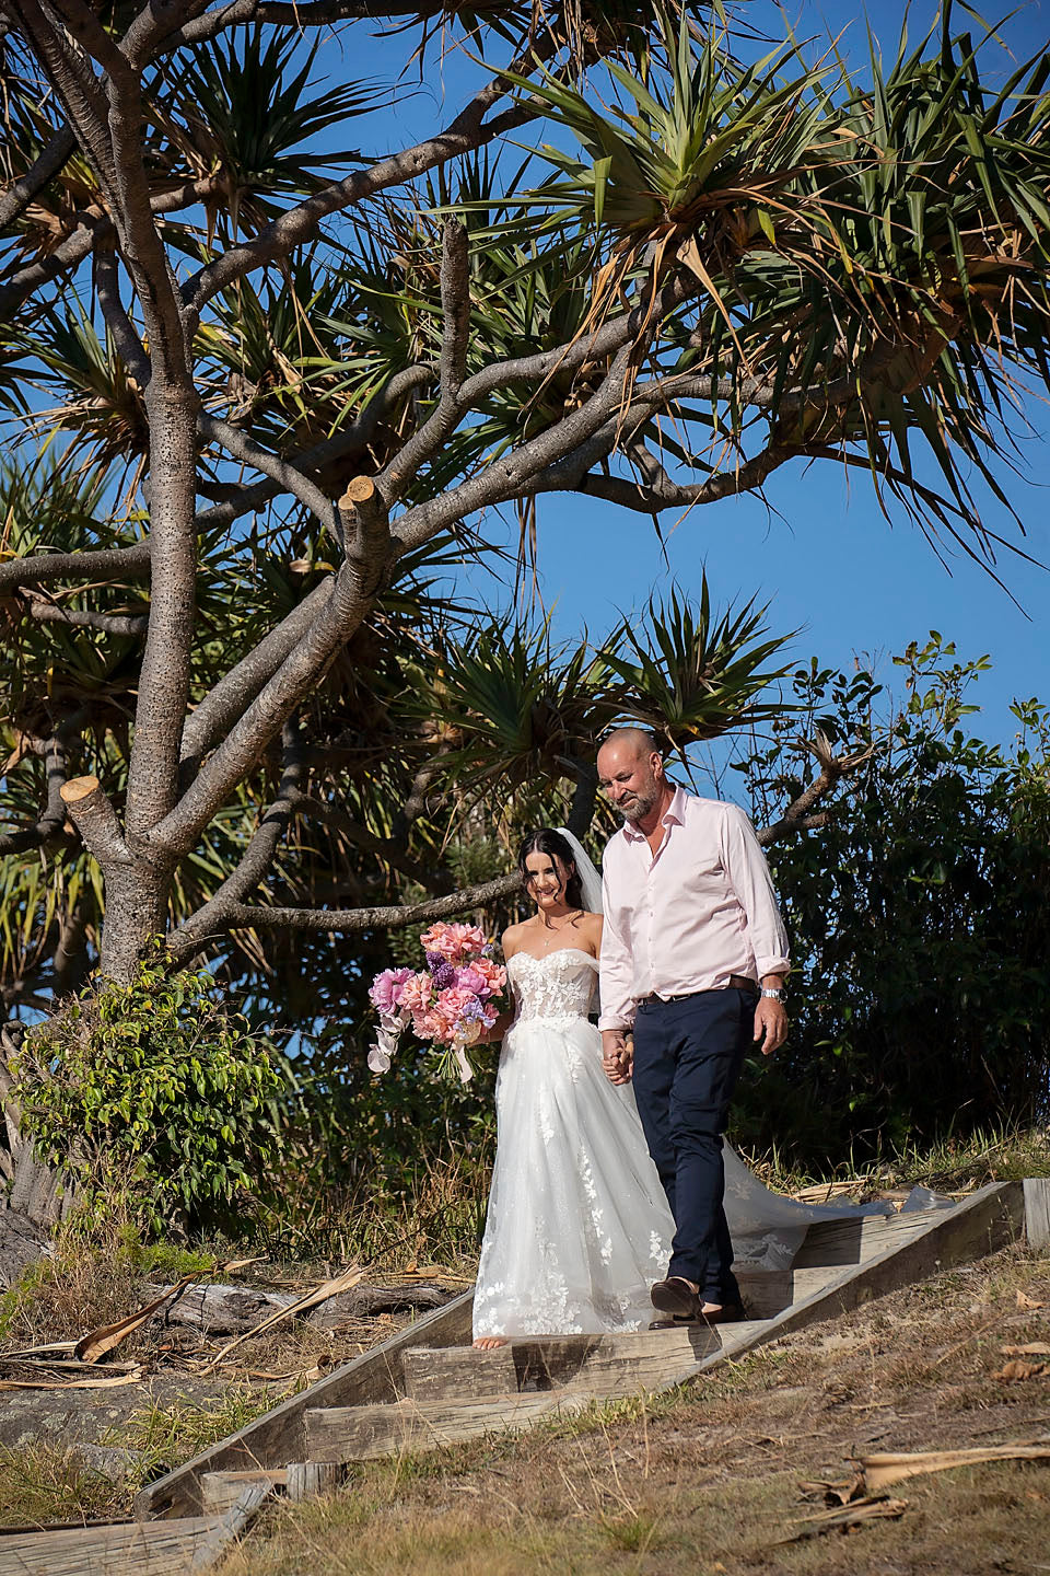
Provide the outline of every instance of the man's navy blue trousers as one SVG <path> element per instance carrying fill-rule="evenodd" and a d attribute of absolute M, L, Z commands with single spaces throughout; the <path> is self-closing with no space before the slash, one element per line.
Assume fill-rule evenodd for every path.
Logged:
<path fill-rule="evenodd" d="M 675 1223 L 667 1273 L 723 1305 L 740 1302 L 723 1207 L 723 1133 L 754 1005 L 754 991 L 730 987 L 639 1002 L 634 1018 L 634 1098 Z"/>

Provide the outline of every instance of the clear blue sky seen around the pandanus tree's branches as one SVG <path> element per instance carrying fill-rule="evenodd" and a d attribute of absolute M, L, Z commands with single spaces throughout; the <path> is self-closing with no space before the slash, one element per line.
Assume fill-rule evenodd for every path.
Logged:
<path fill-rule="evenodd" d="M 886 54 L 896 54 L 900 22 L 908 9 L 910 38 L 919 36 L 937 14 L 929 0 L 905 8 L 900 0 L 880 0 L 871 11 L 872 32 Z M 771 36 L 782 36 L 782 16 L 767 0 L 754 0 L 740 14 Z M 863 13 L 841 3 L 801 0 L 786 13 L 798 38 L 815 41 L 841 35 L 839 47 L 853 68 L 863 71 L 867 55 Z M 996 20 L 995 16 L 990 17 Z M 968 25 L 956 9 L 956 28 Z M 405 38 L 376 41 L 367 66 L 357 71 L 394 79 L 405 58 Z M 1001 27 L 1009 52 L 1028 57 L 1050 43 L 1050 5 L 1031 3 Z M 987 58 L 987 71 L 1006 72 L 1011 54 Z M 332 66 L 335 63 L 332 61 Z M 346 68 L 346 57 L 342 60 Z M 398 104 L 387 134 L 403 143 L 412 131 L 434 125 L 434 110 L 458 106 L 475 79 L 469 61 L 447 55 L 441 71 L 428 72 L 425 85 Z M 381 140 L 386 128 L 368 128 Z M 1025 478 L 1009 476 L 1006 490 L 1025 523 L 1026 550 L 1050 563 L 1047 523 L 1050 492 L 1050 414 L 1031 402 L 1033 432 L 1022 443 Z M 1007 473 L 1003 473 L 1004 476 Z M 995 498 L 982 509 L 985 523 L 1012 541 L 1022 541 Z M 974 698 L 982 701 L 976 727 L 987 738 L 1009 739 L 1014 731 L 1007 706 L 1014 695 L 1050 700 L 1050 574 L 1003 552 L 998 571 L 1011 596 L 959 548 L 945 547 L 948 569 L 932 547 L 889 503 L 891 520 L 878 509 L 863 473 L 847 473 L 834 462 L 790 465 L 768 484 L 768 504 L 759 498 L 727 500 L 694 511 L 677 528 L 664 520 L 664 550 L 652 523 L 642 515 L 581 498 L 542 500 L 538 563 L 543 602 L 554 610 L 554 626 L 576 637 L 582 626 L 600 635 L 620 611 L 642 607 L 649 589 L 674 577 L 685 589 L 707 575 L 715 597 L 759 597 L 770 602 L 775 630 L 800 629 L 792 654 L 811 652 L 823 662 L 849 665 L 855 657 L 877 663 L 893 684 L 888 657 L 911 638 L 940 629 L 954 638 L 962 656 L 989 652 L 993 671 L 982 678 Z M 508 536 L 512 539 L 513 533 Z M 480 589 L 480 588 L 479 588 Z"/>

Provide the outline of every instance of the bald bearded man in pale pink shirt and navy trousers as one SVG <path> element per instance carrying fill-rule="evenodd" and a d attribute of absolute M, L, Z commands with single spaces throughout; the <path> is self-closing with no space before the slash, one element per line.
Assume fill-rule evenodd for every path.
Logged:
<path fill-rule="evenodd" d="M 603 860 L 603 1061 L 614 1084 L 634 1078 L 677 1228 L 653 1307 L 738 1319 L 723 1132 L 748 1045 L 770 1056 L 787 1037 L 773 883 L 743 810 L 669 782 L 644 728 L 604 739 L 598 782 L 623 816 Z"/>

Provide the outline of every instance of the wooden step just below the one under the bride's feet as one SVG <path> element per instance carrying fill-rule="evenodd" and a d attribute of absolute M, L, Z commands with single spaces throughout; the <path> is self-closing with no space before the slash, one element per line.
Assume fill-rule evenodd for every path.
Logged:
<path fill-rule="evenodd" d="M 521 1433 L 540 1417 L 571 1415 L 589 1404 L 586 1395 L 548 1390 L 458 1403 L 332 1406 L 307 1412 L 307 1444 L 312 1456 L 326 1461 L 373 1461 L 401 1451 L 419 1455 L 485 1434 Z"/>

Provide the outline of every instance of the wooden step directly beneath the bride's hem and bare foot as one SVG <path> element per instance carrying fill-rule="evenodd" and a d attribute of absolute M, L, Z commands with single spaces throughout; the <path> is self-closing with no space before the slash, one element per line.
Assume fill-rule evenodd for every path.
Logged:
<path fill-rule="evenodd" d="M 488 1352 L 472 1346 L 417 1346 L 403 1357 L 405 1392 L 417 1401 L 557 1388 L 628 1395 L 664 1384 L 718 1349 L 718 1332 L 707 1325 L 628 1335 L 527 1336 Z"/>

